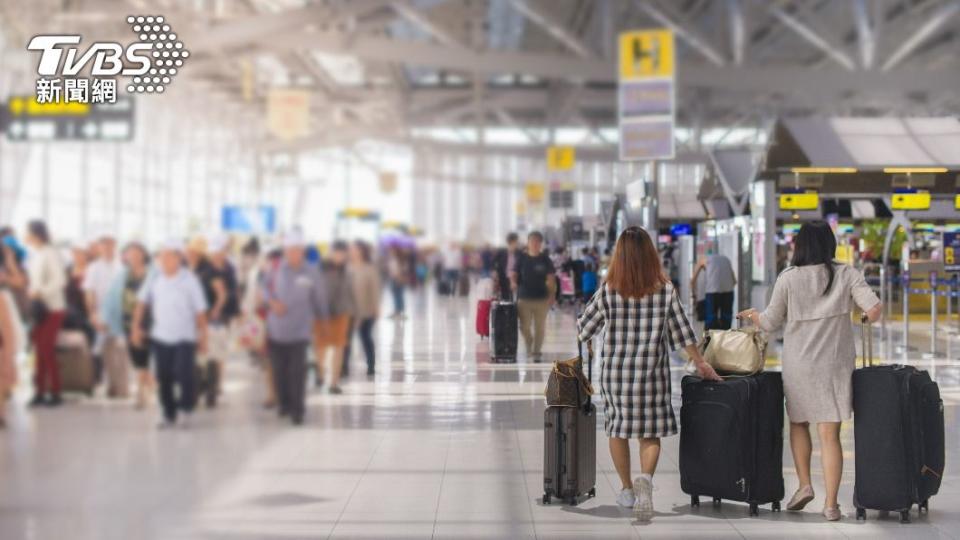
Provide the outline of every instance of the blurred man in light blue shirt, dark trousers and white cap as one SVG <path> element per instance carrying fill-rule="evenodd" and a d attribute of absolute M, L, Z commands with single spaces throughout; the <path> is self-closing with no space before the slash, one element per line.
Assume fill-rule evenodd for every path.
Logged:
<path fill-rule="evenodd" d="M 207 301 L 203 286 L 181 259 L 182 245 L 177 240 L 163 244 L 157 256 L 159 272 L 152 275 L 137 293 L 137 308 L 132 323 L 132 342 L 145 347 L 143 330 L 147 310 L 150 313 L 150 344 L 157 365 L 163 420 L 159 428 L 189 423 L 196 405 L 196 357 L 207 349 Z"/>

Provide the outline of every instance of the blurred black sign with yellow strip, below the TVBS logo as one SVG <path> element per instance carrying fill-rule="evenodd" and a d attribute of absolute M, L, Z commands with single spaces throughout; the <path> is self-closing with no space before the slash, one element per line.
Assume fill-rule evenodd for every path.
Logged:
<path fill-rule="evenodd" d="M 134 136 L 134 101 L 39 103 L 13 96 L 0 107 L 0 129 L 10 141 L 129 141 Z"/>

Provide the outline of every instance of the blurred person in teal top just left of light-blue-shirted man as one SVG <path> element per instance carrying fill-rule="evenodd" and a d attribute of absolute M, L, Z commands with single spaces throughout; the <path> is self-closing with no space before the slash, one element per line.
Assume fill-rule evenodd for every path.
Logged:
<path fill-rule="evenodd" d="M 155 380 L 150 374 L 149 344 L 134 343 L 133 319 L 137 309 L 137 294 L 149 279 L 150 255 L 143 244 L 132 242 L 124 247 L 121 258 L 124 266 L 114 277 L 110 290 L 101 302 L 100 318 L 118 346 L 126 347 L 126 356 L 137 375 L 134 406 L 142 409 L 146 406 L 147 397 L 155 386 Z M 149 311 L 144 314 L 140 329 L 144 335 L 149 335 Z"/>

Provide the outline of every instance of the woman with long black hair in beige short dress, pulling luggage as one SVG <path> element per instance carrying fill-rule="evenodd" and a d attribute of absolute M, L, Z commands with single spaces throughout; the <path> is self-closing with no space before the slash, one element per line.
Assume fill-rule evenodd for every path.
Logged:
<path fill-rule="evenodd" d="M 840 423 L 853 414 L 857 352 L 850 311 L 858 306 L 870 322 L 882 313 L 880 299 L 863 274 L 833 260 L 836 249 L 837 240 L 827 222 L 805 223 L 794 239 L 791 266 L 777 278 L 766 310 L 748 309 L 737 315 L 767 332 L 784 328 L 783 389 L 790 417 L 790 447 L 800 480 L 787 510 L 802 510 L 814 499 L 810 480 L 813 423 L 820 436 L 827 491 L 823 515 L 828 521 L 842 517 L 837 504 L 843 473 Z"/>

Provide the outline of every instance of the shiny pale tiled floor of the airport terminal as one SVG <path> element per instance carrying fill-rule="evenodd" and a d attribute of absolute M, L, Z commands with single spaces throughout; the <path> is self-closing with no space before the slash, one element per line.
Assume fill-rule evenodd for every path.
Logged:
<path fill-rule="evenodd" d="M 416 297 L 413 308 L 405 322 L 378 323 L 376 380 L 354 376 L 342 396 L 314 392 L 301 428 L 259 407 L 259 374 L 242 359 L 228 368 L 223 405 L 189 430 L 158 432 L 155 408 L 103 399 L 27 411 L 24 389 L 0 433 L 0 539 L 960 538 L 956 358 L 918 361 L 943 389 L 948 469 L 930 514 L 913 524 L 853 519 L 848 425 L 840 523 L 813 510 L 751 518 L 735 503 L 691 509 L 673 437 L 656 477 L 657 515 L 642 525 L 615 505 L 602 433 L 597 497 L 541 505 L 548 367 L 487 363 L 463 300 Z M 550 358 L 573 352 L 572 325 L 568 313 L 551 315 Z"/>

